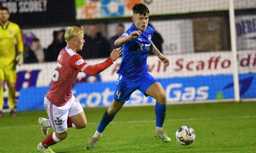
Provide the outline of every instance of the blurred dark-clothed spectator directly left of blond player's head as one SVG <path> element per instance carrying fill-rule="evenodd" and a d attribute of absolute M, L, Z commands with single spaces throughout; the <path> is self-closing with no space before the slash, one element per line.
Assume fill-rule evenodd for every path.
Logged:
<path fill-rule="evenodd" d="M 65 30 L 54 31 L 52 44 L 45 51 L 45 61 L 56 61 L 59 55 L 59 51 L 67 46 L 64 40 Z"/>

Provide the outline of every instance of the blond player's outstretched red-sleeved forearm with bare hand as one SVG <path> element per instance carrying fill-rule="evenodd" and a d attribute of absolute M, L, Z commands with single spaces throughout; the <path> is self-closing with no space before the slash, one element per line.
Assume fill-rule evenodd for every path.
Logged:
<path fill-rule="evenodd" d="M 112 65 L 113 62 L 115 62 L 117 58 L 122 54 L 123 50 L 121 47 L 116 48 L 111 52 L 110 57 L 105 62 L 95 65 L 88 65 L 83 72 L 89 74 L 90 76 L 95 76 Z"/>

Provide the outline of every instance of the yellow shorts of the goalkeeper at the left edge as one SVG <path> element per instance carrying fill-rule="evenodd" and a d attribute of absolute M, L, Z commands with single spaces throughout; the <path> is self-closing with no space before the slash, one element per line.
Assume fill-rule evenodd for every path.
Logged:
<path fill-rule="evenodd" d="M 10 67 L 0 67 L 0 81 L 6 81 L 9 83 L 16 82 L 16 70 Z"/>

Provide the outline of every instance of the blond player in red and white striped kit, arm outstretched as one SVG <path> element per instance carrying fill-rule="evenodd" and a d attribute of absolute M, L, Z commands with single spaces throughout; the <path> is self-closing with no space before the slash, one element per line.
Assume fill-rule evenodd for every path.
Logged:
<path fill-rule="evenodd" d="M 121 47 L 116 48 L 103 63 L 89 65 L 77 54 L 84 46 L 84 28 L 70 26 L 65 32 L 67 47 L 60 50 L 56 68 L 53 70 L 51 87 L 44 97 L 44 107 L 49 119 L 39 118 L 42 133 L 47 135 L 52 126 L 54 132 L 37 145 L 41 153 L 54 153 L 49 146 L 67 137 L 68 128 L 85 128 L 87 125 L 84 110 L 72 94 L 78 72 L 95 76 L 113 64 L 122 55 Z"/>

